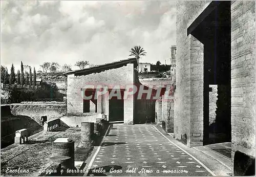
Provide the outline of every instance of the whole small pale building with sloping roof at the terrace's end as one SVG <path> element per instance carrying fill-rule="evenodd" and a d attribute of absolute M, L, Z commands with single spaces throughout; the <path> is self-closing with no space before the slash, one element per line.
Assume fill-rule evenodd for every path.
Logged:
<path fill-rule="evenodd" d="M 68 72 L 67 75 L 67 115 L 83 115 L 100 113 L 109 121 L 124 121 L 133 124 L 134 95 L 123 99 L 126 85 L 134 85 L 138 63 L 136 58 L 97 65 L 92 68 Z M 88 88 L 94 85 L 94 88 Z M 100 95 L 97 86 L 106 89 L 106 94 Z M 112 91 L 121 94 L 110 98 Z M 96 97 L 95 97 L 96 95 Z M 92 96 L 91 99 L 83 99 Z"/>

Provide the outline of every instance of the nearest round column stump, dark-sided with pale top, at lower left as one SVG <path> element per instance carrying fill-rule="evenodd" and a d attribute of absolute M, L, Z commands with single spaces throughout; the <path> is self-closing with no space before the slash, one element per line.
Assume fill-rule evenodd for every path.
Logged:
<path fill-rule="evenodd" d="M 52 157 L 62 158 L 61 167 L 64 169 L 75 168 L 75 142 L 70 138 L 56 139 L 53 142 Z"/>

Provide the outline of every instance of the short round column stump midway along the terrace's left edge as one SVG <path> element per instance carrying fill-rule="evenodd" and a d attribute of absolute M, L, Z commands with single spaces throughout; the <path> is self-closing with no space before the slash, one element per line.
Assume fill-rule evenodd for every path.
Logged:
<path fill-rule="evenodd" d="M 92 146 L 94 134 L 93 122 L 81 122 L 81 141 L 80 146 L 88 147 Z"/>

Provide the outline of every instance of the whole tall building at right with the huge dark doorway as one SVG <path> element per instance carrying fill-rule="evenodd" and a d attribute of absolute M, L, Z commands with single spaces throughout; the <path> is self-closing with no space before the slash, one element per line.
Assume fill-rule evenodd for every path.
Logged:
<path fill-rule="evenodd" d="M 255 2 L 178 1 L 176 69 L 175 138 L 230 142 L 234 175 L 245 174 L 255 162 Z"/>

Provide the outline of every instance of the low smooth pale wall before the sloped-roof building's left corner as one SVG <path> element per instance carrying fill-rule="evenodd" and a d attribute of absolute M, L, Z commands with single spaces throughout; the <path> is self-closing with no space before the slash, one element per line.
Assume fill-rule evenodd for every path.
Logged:
<path fill-rule="evenodd" d="M 101 119 L 102 114 L 99 113 L 89 113 L 83 116 L 63 116 L 60 120 L 70 127 L 81 127 L 81 122 L 95 122 L 96 119 Z"/>

